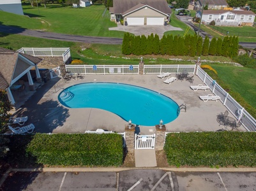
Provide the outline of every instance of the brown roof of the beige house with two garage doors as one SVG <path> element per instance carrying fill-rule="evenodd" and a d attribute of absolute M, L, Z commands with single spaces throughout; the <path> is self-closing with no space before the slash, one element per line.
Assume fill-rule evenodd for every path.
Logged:
<path fill-rule="evenodd" d="M 165 14 L 172 13 L 166 0 L 113 0 L 113 12 L 124 15 L 145 5 Z"/>

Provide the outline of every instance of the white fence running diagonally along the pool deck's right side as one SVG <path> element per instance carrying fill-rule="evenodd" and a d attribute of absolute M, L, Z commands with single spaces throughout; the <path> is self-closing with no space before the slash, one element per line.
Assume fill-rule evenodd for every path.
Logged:
<path fill-rule="evenodd" d="M 243 124 L 247 131 L 256 131 L 256 120 L 252 117 L 229 93 L 227 93 L 215 80 L 213 80 L 203 69 L 197 67 L 197 76 L 208 85 L 215 95 L 221 97 L 221 102 L 232 113 L 236 119 Z"/>

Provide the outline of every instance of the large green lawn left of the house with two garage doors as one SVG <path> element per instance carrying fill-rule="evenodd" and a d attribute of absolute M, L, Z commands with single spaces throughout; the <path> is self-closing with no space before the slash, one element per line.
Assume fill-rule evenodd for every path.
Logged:
<path fill-rule="evenodd" d="M 40 29 L 48 32 L 77 34 L 84 36 L 105 36 L 123 38 L 122 31 L 109 31 L 116 27 L 110 21 L 109 11 L 103 5 L 93 5 L 87 8 L 72 8 L 71 6 L 52 5 L 39 9 L 22 6 L 24 14 L 20 16 L 0 12 L 1 24 L 15 25 L 26 29 Z"/>

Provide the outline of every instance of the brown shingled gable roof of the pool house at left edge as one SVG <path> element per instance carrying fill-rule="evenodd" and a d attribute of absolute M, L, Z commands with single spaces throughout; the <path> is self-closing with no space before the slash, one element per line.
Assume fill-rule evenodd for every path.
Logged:
<path fill-rule="evenodd" d="M 38 64 L 42 60 L 26 53 L 19 53 L 0 47 L 0 89 L 6 89 L 11 85 L 19 57 L 26 58 L 30 62 L 33 62 L 33 64 Z"/>

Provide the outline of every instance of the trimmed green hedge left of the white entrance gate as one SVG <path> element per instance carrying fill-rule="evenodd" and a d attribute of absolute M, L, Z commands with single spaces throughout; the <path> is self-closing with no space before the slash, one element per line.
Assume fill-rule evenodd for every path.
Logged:
<path fill-rule="evenodd" d="M 119 134 L 36 134 L 27 152 L 46 166 L 121 166 Z"/>

